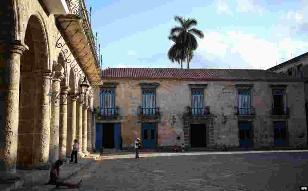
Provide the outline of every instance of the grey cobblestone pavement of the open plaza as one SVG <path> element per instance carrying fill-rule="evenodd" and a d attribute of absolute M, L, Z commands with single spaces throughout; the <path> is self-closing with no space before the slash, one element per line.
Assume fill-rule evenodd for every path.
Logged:
<path fill-rule="evenodd" d="M 98 160 L 69 181 L 82 179 L 79 190 L 101 191 L 296 191 L 308 185 L 307 167 L 308 152 L 159 156 Z"/>

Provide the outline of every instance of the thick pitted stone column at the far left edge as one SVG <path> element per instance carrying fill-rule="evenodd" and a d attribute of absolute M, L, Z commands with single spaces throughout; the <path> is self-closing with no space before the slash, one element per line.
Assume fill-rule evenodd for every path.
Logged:
<path fill-rule="evenodd" d="M 4 68 L 0 77 L 0 180 L 15 180 L 19 176 L 16 173 L 17 143 L 18 143 L 18 119 L 19 119 L 19 80 L 20 57 L 28 46 L 20 41 L 14 44 L 0 45 L 0 66 Z"/>

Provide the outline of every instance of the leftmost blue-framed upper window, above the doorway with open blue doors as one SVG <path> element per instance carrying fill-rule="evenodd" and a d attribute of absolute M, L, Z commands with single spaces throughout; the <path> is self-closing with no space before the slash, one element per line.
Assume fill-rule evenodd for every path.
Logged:
<path fill-rule="evenodd" d="M 115 89 L 101 89 L 101 114 L 103 116 L 115 115 Z"/>

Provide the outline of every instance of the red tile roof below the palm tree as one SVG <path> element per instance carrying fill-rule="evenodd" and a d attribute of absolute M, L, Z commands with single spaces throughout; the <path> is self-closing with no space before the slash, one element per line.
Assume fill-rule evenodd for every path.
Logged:
<path fill-rule="evenodd" d="M 182 79 L 182 80 L 274 80 L 304 81 L 298 77 L 265 70 L 248 69 L 181 69 L 181 68 L 106 68 L 104 79 Z"/>

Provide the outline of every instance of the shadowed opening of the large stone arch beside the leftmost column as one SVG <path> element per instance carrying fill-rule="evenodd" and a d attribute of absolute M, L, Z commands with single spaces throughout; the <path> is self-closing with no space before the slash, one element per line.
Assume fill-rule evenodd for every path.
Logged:
<path fill-rule="evenodd" d="M 46 69 L 47 42 L 39 18 L 31 15 L 24 42 L 29 50 L 20 59 L 19 124 L 17 166 L 33 169 L 42 161 L 43 70 Z M 48 108 L 47 108 L 48 109 Z"/>

